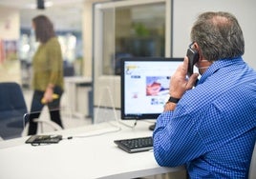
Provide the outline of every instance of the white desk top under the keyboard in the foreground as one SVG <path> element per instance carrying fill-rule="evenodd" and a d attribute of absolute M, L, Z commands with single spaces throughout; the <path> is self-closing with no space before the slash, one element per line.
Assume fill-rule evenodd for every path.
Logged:
<path fill-rule="evenodd" d="M 161 168 L 152 151 L 127 153 L 118 149 L 115 139 L 148 136 L 149 123 L 138 122 L 135 129 L 109 123 L 67 129 L 56 133 L 87 136 L 62 140 L 58 144 L 32 147 L 24 144 L 28 137 L 0 142 L 0 178 L 3 179 L 124 179 L 150 176 L 183 169 Z M 102 134 L 104 132 L 109 132 Z M 90 136 L 93 134 L 101 134 Z M 16 146 L 12 146 L 15 143 Z M 8 147 L 9 146 L 9 147 Z"/>

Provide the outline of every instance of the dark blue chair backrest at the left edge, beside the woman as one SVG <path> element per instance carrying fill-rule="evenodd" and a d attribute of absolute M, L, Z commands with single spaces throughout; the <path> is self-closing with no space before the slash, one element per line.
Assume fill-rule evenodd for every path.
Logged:
<path fill-rule="evenodd" d="M 27 112 L 20 85 L 14 82 L 0 83 L 0 137 L 6 140 L 21 136 L 23 115 Z"/>

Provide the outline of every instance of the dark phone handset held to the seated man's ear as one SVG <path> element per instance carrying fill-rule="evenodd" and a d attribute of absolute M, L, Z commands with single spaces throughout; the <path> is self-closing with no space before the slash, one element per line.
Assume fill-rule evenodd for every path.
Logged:
<path fill-rule="evenodd" d="M 188 57 L 187 76 L 190 77 L 193 74 L 194 65 L 199 61 L 199 52 L 189 48 L 186 51 L 186 56 Z"/>

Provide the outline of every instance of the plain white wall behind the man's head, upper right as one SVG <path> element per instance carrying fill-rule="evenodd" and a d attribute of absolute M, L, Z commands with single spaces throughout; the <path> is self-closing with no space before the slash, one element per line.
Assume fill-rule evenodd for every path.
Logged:
<path fill-rule="evenodd" d="M 182 57 L 190 43 L 190 29 L 203 11 L 229 11 L 244 31 L 245 61 L 256 70 L 256 1 L 255 0 L 173 0 L 173 56 Z"/>

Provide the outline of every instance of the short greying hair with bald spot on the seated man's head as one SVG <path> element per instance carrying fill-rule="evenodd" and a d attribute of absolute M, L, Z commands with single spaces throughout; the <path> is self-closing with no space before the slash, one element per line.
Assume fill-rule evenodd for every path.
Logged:
<path fill-rule="evenodd" d="M 200 46 L 208 61 L 231 59 L 245 53 L 243 31 L 236 17 L 228 12 L 204 12 L 191 30 L 191 40 Z"/>

